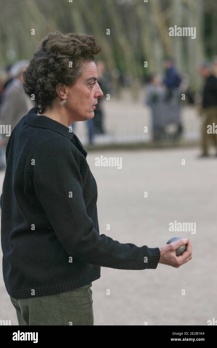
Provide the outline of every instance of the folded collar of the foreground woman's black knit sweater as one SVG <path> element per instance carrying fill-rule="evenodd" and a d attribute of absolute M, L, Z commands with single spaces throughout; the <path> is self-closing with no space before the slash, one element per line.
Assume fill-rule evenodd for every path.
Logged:
<path fill-rule="evenodd" d="M 53 120 L 52 118 L 49 118 L 43 115 L 38 116 L 36 113 L 36 108 L 32 108 L 31 110 L 29 110 L 29 112 L 26 114 L 25 120 L 26 120 L 26 123 L 34 127 L 52 129 L 54 130 L 54 132 L 62 134 L 64 137 L 66 137 L 70 141 L 75 135 L 70 128 L 64 126 L 60 122 L 57 122 Z"/>

